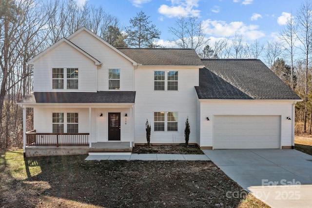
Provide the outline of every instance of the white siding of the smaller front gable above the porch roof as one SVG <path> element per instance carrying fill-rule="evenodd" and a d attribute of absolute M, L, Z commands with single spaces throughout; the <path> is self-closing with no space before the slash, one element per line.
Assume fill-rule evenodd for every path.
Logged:
<path fill-rule="evenodd" d="M 78 89 L 66 89 L 64 81 L 63 89 L 53 89 L 52 68 L 63 68 L 64 80 L 67 77 L 67 68 L 79 69 Z M 66 42 L 46 53 L 34 63 L 34 91 L 35 92 L 96 92 L 95 62 L 77 51 Z"/>

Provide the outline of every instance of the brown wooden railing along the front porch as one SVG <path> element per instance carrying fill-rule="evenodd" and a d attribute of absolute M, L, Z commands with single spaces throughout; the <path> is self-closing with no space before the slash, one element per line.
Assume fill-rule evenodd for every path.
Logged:
<path fill-rule="evenodd" d="M 27 146 L 88 146 L 89 133 L 37 133 L 26 132 Z"/>

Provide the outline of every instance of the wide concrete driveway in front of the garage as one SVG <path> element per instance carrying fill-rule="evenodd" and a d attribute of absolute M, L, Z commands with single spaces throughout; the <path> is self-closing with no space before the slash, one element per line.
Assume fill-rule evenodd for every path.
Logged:
<path fill-rule="evenodd" d="M 237 184 L 272 208 L 312 207 L 312 156 L 294 149 L 203 152 Z M 246 194 L 227 192 L 226 197 Z"/>

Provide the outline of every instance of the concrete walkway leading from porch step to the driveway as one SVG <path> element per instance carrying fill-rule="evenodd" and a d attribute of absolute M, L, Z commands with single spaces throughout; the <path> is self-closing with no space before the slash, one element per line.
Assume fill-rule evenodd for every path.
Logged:
<path fill-rule="evenodd" d="M 206 155 L 191 154 L 130 154 L 130 155 L 89 155 L 85 160 L 205 160 Z"/>

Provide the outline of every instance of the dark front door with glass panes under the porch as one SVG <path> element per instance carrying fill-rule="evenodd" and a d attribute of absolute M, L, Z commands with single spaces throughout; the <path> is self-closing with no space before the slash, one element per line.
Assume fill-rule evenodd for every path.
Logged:
<path fill-rule="evenodd" d="M 120 141 L 120 113 L 108 113 L 108 140 Z"/>

